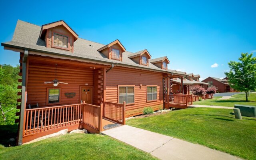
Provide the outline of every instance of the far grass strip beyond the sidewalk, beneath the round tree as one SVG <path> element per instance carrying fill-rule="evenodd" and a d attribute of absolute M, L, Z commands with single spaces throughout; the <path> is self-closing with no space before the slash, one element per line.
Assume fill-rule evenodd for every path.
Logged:
<path fill-rule="evenodd" d="M 250 106 L 256 106 L 256 94 L 250 93 L 248 96 L 248 102 L 245 100 L 245 94 L 235 94 L 232 98 L 227 100 L 218 100 L 218 97 L 214 97 L 214 99 L 202 100 L 193 102 L 193 104 L 198 105 L 213 105 L 213 106 L 226 106 L 226 107 L 234 107 L 234 104 L 244 104 Z"/>

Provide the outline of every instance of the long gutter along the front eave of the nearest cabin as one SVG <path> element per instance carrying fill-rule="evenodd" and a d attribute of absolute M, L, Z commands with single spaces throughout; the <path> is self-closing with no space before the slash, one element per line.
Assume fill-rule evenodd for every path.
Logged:
<path fill-rule="evenodd" d="M 168 72 L 167 70 L 157 70 L 157 69 L 154 69 L 154 68 L 144 68 L 144 67 L 141 67 L 141 66 L 133 66 L 133 65 L 130 65 L 130 64 L 122 64 L 122 63 L 118 63 L 118 62 L 106 62 L 106 61 L 103 61 L 103 60 L 90 59 L 90 58 L 72 56 L 72 55 L 67 55 L 67 54 L 60 54 L 60 53 L 55 53 L 55 52 L 50 52 L 50 51 L 37 50 L 37 49 L 33 49 L 33 48 L 14 46 L 14 45 L 5 44 L 5 43 L 1 43 L 1 46 L 10 47 L 10 48 L 17 48 L 17 49 L 22 49 L 22 50 L 30 50 L 30 51 L 41 52 L 41 53 L 46 53 L 46 54 L 53 54 L 53 55 L 57 55 L 57 56 L 66 56 L 66 57 L 71 57 L 71 58 L 78 58 L 78 59 L 82 59 L 82 60 L 90 60 L 90 61 L 95 61 L 95 62 L 102 62 L 102 63 L 105 63 L 105 64 L 106 63 L 107 64 L 111 64 L 111 65 L 112 64 L 119 64 L 119 65 L 124 65 L 124 66 L 132 66 L 132 67 L 136 67 L 136 68 L 142 68 L 144 70 L 154 70 L 156 72 L 164 72 L 164 73 L 168 73 L 168 74 L 175 74 L 175 75 L 184 76 L 184 74 L 172 73 L 172 72 Z"/>

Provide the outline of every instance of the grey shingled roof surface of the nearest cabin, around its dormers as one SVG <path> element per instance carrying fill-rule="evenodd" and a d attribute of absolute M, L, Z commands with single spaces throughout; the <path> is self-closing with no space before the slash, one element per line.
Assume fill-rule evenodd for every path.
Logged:
<path fill-rule="evenodd" d="M 123 52 L 122 62 L 117 60 L 110 60 L 104 56 L 104 54 L 98 52 L 99 48 L 105 46 L 104 44 L 92 42 L 82 38 L 78 38 L 74 42 L 74 52 L 68 52 L 64 50 L 59 50 L 55 48 L 46 48 L 46 43 L 44 40 L 39 38 L 41 26 L 24 22 L 18 20 L 12 41 L 2 43 L 2 46 L 32 50 L 36 52 L 44 52 L 48 54 L 56 54 L 59 56 L 69 56 L 73 58 L 80 58 L 86 60 L 92 60 L 96 62 L 107 62 L 112 64 L 121 64 L 124 66 L 134 66 L 138 68 L 144 68 L 146 70 L 158 70 L 161 72 L 170 72 L 178 75 L 183 75 L 182 73 L 172 72 L 172 70 L 163 70 L 149 63 L 148 66 L 140 65 L 128 58 L 128 55 L 134 54 L 132 52 Z M 162 60 L 162 58 L 156 58 Z"/>

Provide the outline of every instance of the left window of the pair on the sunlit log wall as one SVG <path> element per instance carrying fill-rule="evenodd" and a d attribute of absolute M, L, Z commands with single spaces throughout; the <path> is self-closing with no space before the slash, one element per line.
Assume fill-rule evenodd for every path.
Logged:
<path fill-rule="evenodd" d="M 134 87 L 119 87 L 119 103 L 134 103 Z"/>

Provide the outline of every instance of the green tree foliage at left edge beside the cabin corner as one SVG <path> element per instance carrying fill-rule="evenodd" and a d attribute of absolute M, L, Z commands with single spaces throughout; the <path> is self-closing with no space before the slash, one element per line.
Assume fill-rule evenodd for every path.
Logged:
<path fill-rule="evenodd" d="M 19 66 L 13 67 L 7 64 L 0 65 L 0 102 L 2 103 L 3 112 L 10 110 L 5 113 L 6 121 L 0 116 L 0 125 L 14 124 L 15 119 L 17 118 L 15 113 L 18 111 L 16 105 L 18 98 L 18 78 L 20 78 L 18 74 L 19 71 Z"/>

